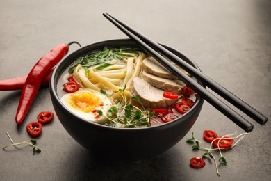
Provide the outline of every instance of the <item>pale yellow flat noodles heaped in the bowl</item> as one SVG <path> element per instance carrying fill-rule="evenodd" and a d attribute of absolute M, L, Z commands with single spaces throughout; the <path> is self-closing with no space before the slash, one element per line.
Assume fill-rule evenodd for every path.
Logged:
<path fill-rule="evenodd" d="M 145 54 L 142 52 L 122 54 L 126 58 L 107 61 L 105 63 L 112 65 L 107 65 L 105 68 L 101 68 L 103 64 L 90 68 L 83 68 L 79 64 L 76 66 L 72 75 L 84 88 L 90 88 L 95 91 L 104 89 L 108 93 L 111 93 L 110 96 L 114 100 L 125 97 L 126 103 L 131 104 L 133 101 L 131 83 L 133 78 L 138 77 L 140 74 L 141 63 L 145 58 Z M 101 70 L 98 68 L 101 68 Z"/>

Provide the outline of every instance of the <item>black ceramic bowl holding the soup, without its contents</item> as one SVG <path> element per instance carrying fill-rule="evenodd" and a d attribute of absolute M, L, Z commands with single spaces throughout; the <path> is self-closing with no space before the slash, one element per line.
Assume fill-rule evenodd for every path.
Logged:
<path fill-rule="evenodd" d="M 50 94 L 60 123 L 75 141 L 90 150 L 94 155 L 104 159 L 122 161 L 147 159 L 172 148 L 188 133 L 197 120 L 204 102 L 202 97 L 197 97 L 195 106 L 180 118 L 163 125 L 146 128 L 115 128 L 90 123 L 68 111 L 60 101 L 57 93 L 57 84 L 63 71 L 79 56 L 87 54 L 94 49 L 102 49 L 104 46 L 119 48 L 138 47 L 136 43 L 126 39 L 97 42 L 82 47 L 58 63 L 51 75 Z M 183 56 L 183 54 L 170 47 L 166 48 L 170 49 L 174 54 L 183 57 L 185 61 L 199 69 L 195 63 Z"/>

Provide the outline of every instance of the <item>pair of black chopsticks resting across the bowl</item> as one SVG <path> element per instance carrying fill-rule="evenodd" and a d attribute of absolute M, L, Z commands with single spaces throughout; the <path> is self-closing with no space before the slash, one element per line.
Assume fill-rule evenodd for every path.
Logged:
<path fill-rule="evenodd" d="M 170 70 L 170 72 L 175 74 L 176 77 L 182 79 L 186 84 L 188 84 L 188 86 L 193 88 L 194 91 L 201 95 L 204 100 L 212 104 L 213 107 L 222 112 L 225 116 L 231 119 L 233 123 L 236 123 L 236 125 L 244 129 L 246 132 L 252 131 L 254 127 L 252 123 L 249 123 L 248 120 L 240 116 L 240 114 L 236 113 L 236 111 L 233 111 L 233 109 L 227 106 L 227 104 L 224 104 L 224 102 L 215 97 L 215 95 L 207 91 L 203 86 L 199 85 L 197 81 L 189 77 L 187 74 L 183 73 L 181 70 L 179 70 L 179 68 L 176 68 L 176 66 L 167 61 L 164 56 L 170 58 L 172 62 L 176 63 L 176 65 L 179 65 L 181 68 L 183 68 L 183 70 L 186 70 L 186 72 L 192 74 L 192 76 L 196 79 L 201 80 L 206 86 L 208 86 L 208 88 L 211 88 L 215 93 L 236 106 L 238 109 L 240 109 L 240 111 L 243 111 L 248 116 L 256 120 L 256 122 L 258 122 L 259 124 L 265 125 L 265 123 L 268 121 L 268 118 L 263 116 L 263 114 L 256 111 L 256 109 L 249 106 L 249 104 L 247 104 L 243 100 L 240 100 L 240 98 L 238 98 L 236 95 L 233 95 L 233 93 L 227 91 L 226 88 L 220 86 L 220 84 L 217 84 L 215 81 L 213 81 L 213 79 L 207 77 L 205 74 L 194 68 L 189 63 L 186 63 L 186 61 L 183 61 L 183 59 L 179 56 L 176 56 L 169 50 L 165 49 L 163 46 L 145 37 L 144 35 L 127 26 L 126 24 L 123 24 L 118 19 L 112 17 L 108 13 L 104 13 L 103 15 L 115 26 L 117 26 L 118 29 L 125 33 L 126 36 L 129 36 L 129 38 L 131 38 L 138 45 L 140 45 L 142 49 L 144 49 L 147 53 L 151 54 L 151 56 L 154 56 L 154 58 L 156 58 L 158 62 L 165 66 L 167 70 Z M 161 54 L 163 54 L 163 56 Z"/>

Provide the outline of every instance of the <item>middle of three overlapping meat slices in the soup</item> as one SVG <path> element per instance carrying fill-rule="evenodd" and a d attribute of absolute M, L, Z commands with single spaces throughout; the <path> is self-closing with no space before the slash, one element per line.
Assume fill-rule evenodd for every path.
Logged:
<path fill-rule="evenodd" d="M 156 88 L 161 88 L 164 91 L 170 91 L 173 93 L 181 94 L 181 89 L 186 86 L 183 81 L 177 79 L 166 79 L 162 77 L 158 77 L 153 74 L 148 74 L 145 71 L 142 71 L 141 78 L 147 81 L 147 83 L 151 84 Z"/>

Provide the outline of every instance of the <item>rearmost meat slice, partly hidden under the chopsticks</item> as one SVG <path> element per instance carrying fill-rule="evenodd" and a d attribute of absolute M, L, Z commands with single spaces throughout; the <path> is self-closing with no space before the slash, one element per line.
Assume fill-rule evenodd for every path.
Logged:
<path fill-rule="evenodd" d="M 186 72 L 182 68 L 179 69 L 188 74 L 188 72 Z M 142 70 L 149 74 L 154 74 L 158 77 L 163 77 L 166 79 L 177 79 L 176 76 L 174 76 L 174 74 L 168 71 L 163 65 L 161 65 L 161 63 L 156 61 L 156 59 L 152 56 L 149 56 L 142 61 Z M 190 74 L 188 75 L 190 76 Z"/>

